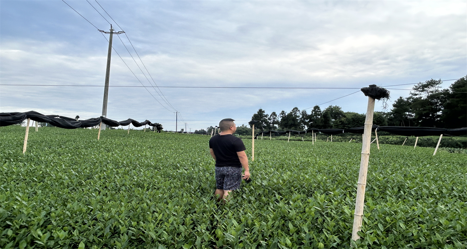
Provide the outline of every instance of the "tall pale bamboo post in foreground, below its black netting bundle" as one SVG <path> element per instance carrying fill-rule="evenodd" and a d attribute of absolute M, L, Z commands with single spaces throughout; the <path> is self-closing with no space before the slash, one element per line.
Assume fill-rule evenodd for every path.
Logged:
<path fill-rule="evenodd" d="M 354 227 L 352 228 L 352 240 L 360 239 L 357 234 L 361 230 L 363 220 L 363 204 L 365 201 L 365 187 L 367 185 L 368 159 L 370 157 L 371 128 L 373 126 L 373 113 L 375 111 L 375 99 L 368 97 L 367 116 L 363 130 L 363 141 L 361 145 L 360 173 L 357 184 L 357 198 L 355 201 Z"/>

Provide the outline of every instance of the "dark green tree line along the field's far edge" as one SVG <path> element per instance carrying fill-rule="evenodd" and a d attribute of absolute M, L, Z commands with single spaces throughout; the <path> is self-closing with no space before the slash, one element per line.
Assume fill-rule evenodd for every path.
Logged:
<path fill-rule="evenodd" d="M 456 80 L 446 89 L 442 81 L 428 80 L 412 88 L 410 96 L 399 97 L 388 112 L 375 112 L 373 123 L 379 126 L 418 126 L 462 128 L 467 126 L 467 76 Z M 266 114 L 259 109 L 252 120 L 259 121 L 255 128 L 261 130 L 304 130 L 308 128 L 352 128 L 363 126 L 365 114 L 344 112 L 339 106 L 321 110 L 319 106 L 300 111 Z"/>

